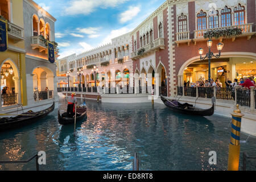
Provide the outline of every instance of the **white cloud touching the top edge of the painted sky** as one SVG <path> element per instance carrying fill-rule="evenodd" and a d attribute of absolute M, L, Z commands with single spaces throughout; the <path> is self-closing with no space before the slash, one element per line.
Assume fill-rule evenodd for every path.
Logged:
<path fill-rule="evenodd" d="M 129 0 L 75 0 L 69 1 L 69 6 L 65 9 L 65 15 L 88 15 L 98 7 L 106 9 L 116 7 Z"/>

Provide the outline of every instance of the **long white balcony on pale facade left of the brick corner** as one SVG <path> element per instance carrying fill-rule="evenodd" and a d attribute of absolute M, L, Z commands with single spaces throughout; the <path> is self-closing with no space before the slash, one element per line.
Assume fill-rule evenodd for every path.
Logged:
<path fill-rule="evenodd" d="M 142 48 L 138 49 L 135 52 L 131 53 L 131 59 L 139 59 L 141 57 L 146 56 L 148 53 L 152 53 L 155 50 L 164 49 L 164 38 L 158 38 L 154 40 L 152 43 L 148 43 Z"/>

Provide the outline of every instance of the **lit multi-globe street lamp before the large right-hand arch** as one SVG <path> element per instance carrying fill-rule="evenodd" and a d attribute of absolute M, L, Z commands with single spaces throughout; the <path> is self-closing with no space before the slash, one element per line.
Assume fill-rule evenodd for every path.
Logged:
<path fill-rule="evenodd" d="M 199 49 L 199 54 L 200 54 L 200 60 L 201 60 L 201 61 L 203 61 L 203 60 L 205 60 L 205 59 L 208 59 L 208 64 L 209 64 L 209 73 L 208 73 L 208 77 L 209 77 L 209 81 L 210 81 L 210 80 L 211 80 L 211 79 L 210 79 L 210 59 L 212 59 L 213 56 L 216 57 L 216 58 L 220 58 L 220 56 L 221 56 L 221 50 L 222 50 L 224 44 L 222 44 L 222 43 L 218 43 L 218 44 L 217 44 L 218 55 L 214 55 L 213 52 L 210 50 L 210 48 L 212 47 L 212 40 L 208 40 L 208 41 L 207 41 L 207 46 L 208 46 L 208 48 L 209 48 L 209 51 L 208 51 L 207 55 L 206 55 L 205 57 L 202 57 L 203 52 L 204 52 L 204 49 L 202 49 L 202 48 Z"/>

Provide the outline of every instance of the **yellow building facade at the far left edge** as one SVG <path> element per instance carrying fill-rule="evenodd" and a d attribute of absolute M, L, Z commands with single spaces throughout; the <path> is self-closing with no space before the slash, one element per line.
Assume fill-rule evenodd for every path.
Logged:
<path fill-rule="evenodd" d="M 7 50 L 0 52 L 1 112 L 11 105 L 27 105 L 23 2 L 0 2 L 1 20 L 7 23 Z M 2 27 L 3 28 L 3 27 Z M 4 88 L 8 88 L 5 92 Z"/>

